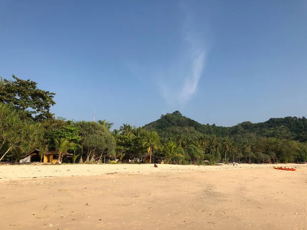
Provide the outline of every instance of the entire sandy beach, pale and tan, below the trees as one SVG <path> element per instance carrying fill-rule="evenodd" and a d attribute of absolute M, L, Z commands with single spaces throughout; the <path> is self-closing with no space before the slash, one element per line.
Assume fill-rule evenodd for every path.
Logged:
<path fill-rule="evenodd" d="M 0 165 L 0 229 L 307 229 L 307 166 Z"/>

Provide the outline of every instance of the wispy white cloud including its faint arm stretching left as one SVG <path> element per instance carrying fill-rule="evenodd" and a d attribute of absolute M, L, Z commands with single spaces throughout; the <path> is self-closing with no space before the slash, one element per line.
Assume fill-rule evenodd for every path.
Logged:
<path fill-rule="evenodd" d="M 183 44 L 180 47 L 181 55 L 160 65 L 144 66 L 135 62 L 128 65 L 130 72 L 139 80 L 143 78 L 140 76 L 150 76 L 166 103 L 176 108 L 184 107 L 197 93 L 209 47 L 206 43 L 208 37 L 201 33 L 204 32 L 204 22 L 200 32 L 192 11 L 184 3 L 180 6 L 184 13 L 182 36 L 178 37 L 179 43 L 181 41 Z"/>

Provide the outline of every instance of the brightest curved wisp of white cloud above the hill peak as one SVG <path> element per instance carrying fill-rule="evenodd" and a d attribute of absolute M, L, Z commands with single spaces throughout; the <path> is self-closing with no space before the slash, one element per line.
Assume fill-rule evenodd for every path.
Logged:
<path fill-rule="evenodd" d="M 198 85 L 205 67 L 207 48 L 204 37 L 195 29 L 194 15 L 188 12 L 183 4 L 181 4 L 181 7 L 186 14 L 181 37 L 186 43 L 183 54 L 185 59 L 183 61 L 180 59 L 174 60 L 175 68 L 181 70 L 165 71 L 163 77 L 158 78 L 157 85 L 168 104 L 183 107 L 198 91 Z M 177 72 L 176 79 L 171 77 L 173 72 Z M 170 80 L 167 81 L 167 79 Z M 174 81 L 176 81 L 176 84 L 174 84 Z"/>

